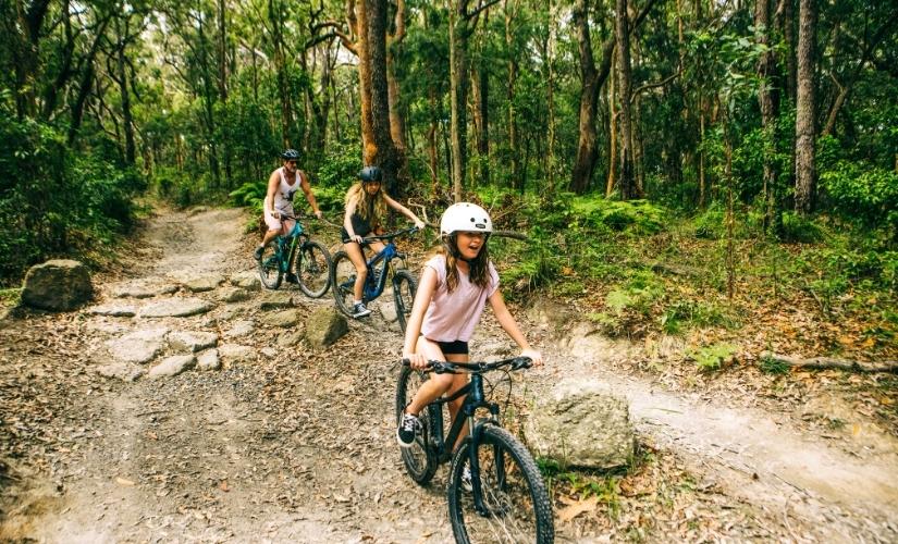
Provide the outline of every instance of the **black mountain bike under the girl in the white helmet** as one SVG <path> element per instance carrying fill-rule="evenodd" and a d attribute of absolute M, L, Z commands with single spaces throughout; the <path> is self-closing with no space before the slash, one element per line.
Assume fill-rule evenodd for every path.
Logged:
<path fill-rule="evenodd" d="M 516 357 L 495 362 L 428 362 L 428 372 L 466 372 L 471 380 L 452 396 L 428 405 L 418 416 L 420 433 L 411 447 L 402 448 L 408 474 L 426 485 L 439 463 L 451 461 L 446 498 L 456 542 L 554 542 L 552 504 L 537 463 L 530 452 L 502 429 L 499 405 L 488 401 L 483 392 L 484 373 L 520 370 L 532 361 Z M 397 422 L 426 380 L 426 372 L 411 369 L 408 360 L 403 360 L 396 387 Z M 459 417 L 446 434 L 443 424 L 448 409 L 444 406 L 462 395 L 467 396 Z M 489 410 L 489 417 L 475 419 L 481 408 Z M 453 453 L 465 422 L 469 434 Z"/>

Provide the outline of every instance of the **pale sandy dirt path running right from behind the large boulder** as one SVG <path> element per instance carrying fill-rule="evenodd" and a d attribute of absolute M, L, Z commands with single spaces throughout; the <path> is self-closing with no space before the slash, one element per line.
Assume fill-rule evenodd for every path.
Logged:
<path fill-rule="evenodd" d="M 808 534 L 791 534 L 796 540 L 898 537 L 894 440 L 876 450 L 864 448 L 863 456 L 849 455 L 761 410 L 688 398 L 620 375 L 615 359 L 629 356 L 626 344 L 589 334 L 587 326 L 558 347 L 578 361 L 565 374 L 600 380 L 627 396 L 641 433 L 665 448 L 688 453 L 692 469 L 729 494 L 780 511 L 786 522 L 795 518 L 798 526 L 807 526 Z"/>

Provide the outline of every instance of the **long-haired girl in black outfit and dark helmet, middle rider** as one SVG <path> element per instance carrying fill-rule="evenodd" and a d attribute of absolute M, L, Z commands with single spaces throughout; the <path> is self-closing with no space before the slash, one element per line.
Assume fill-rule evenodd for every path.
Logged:
<path fill-rule="evenodd" d="M 425 222 L 399 202 L 390 198 L 381 190 L 383 171 L 378 166 L 365 166 L 358 173 L 359 182 L 346 191 L 346 214 L 343 218 L 343 247 L 353 264 L 356 267 L 356 283 L 353 287 L 353 317 L 362 318 L 371 313 L 361 301 L 361 292 L 368 269 L 365 267 L 365 255 L 361 252 L 361 238 L 368 234 L 379 234 L 386 215 L 386 207 L 393 208 L 409 220 L 418 228 L 425 227 Z M 384 248 L 383 243 L 372 242 L 369 247 L 374 252 Z"/>

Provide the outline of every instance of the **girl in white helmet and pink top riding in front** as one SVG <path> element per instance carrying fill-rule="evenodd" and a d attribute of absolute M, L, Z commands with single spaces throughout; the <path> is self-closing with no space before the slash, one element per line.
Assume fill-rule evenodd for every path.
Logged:
<path fill-rule="evenodd" d="M 427 368 L 428 359 L 468 362 L 468 341 L 487 301 L 502 329 L 520 347 L 520 355 L 542 364 L 542 356 L 530 347 L 499 289 L 499 274 L 490 261 L 487 242 L 493 232 L 487 211 L 473 203 L 450 206 L 440 220 L 443 246 L 425 264 L 411 317 L 405 331 L 403 358 L 415 369 Z M 403 447 L 415 443 L 420 428 L 418 413 L 425 406 L 467 384 L 466 374 L 431 374 L 406 407 L 396 430 Z M 453 420 L 464 396 L 450 403 Z M 465 436 L 459 435 L 459 441 Z"/>

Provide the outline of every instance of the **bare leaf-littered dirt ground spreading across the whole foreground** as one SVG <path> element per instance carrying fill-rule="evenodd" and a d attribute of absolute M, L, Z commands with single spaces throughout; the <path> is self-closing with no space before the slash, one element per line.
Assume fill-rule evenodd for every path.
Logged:
<path fill-rule="evenodd" d="M 302 320 L 263 323 L 272 306 L 305 316 L 330 294 L 290 286 L 223 302 L 225 286 L 183 287 L 255 270 L 245 223 L 234 209 L 161 210 L 122 265 L 94 277 L 100 305 L 199 298 L 207 313 L 20 309 L 0 322 L 0 541 L 452 540 L 445 471 L 419 487 L 398 455 L 395 325 L 376 311 L 312 351 L 297 342 Z M 336 249 L 335 232 L 317 237 Z M 116 297 L 128 289 L 155 296 Z M 558 542 L 898 541 L 896 430 L 865 408 L 891 401 L 894 381 L 753 368 L 696 378 L 659 367 L 676 338 L 607 339 L 557 300 L 513 311 L 546 359 L 516 393 L 603 381 L 627 396 L 637 428 L 627 470 L 553 474 Z M 222 369 L 134 381 L 109 370 L 116 339 L 160 329 L 214 333 Z M 489 311 L 472 348 L 514 351 Z"/>

